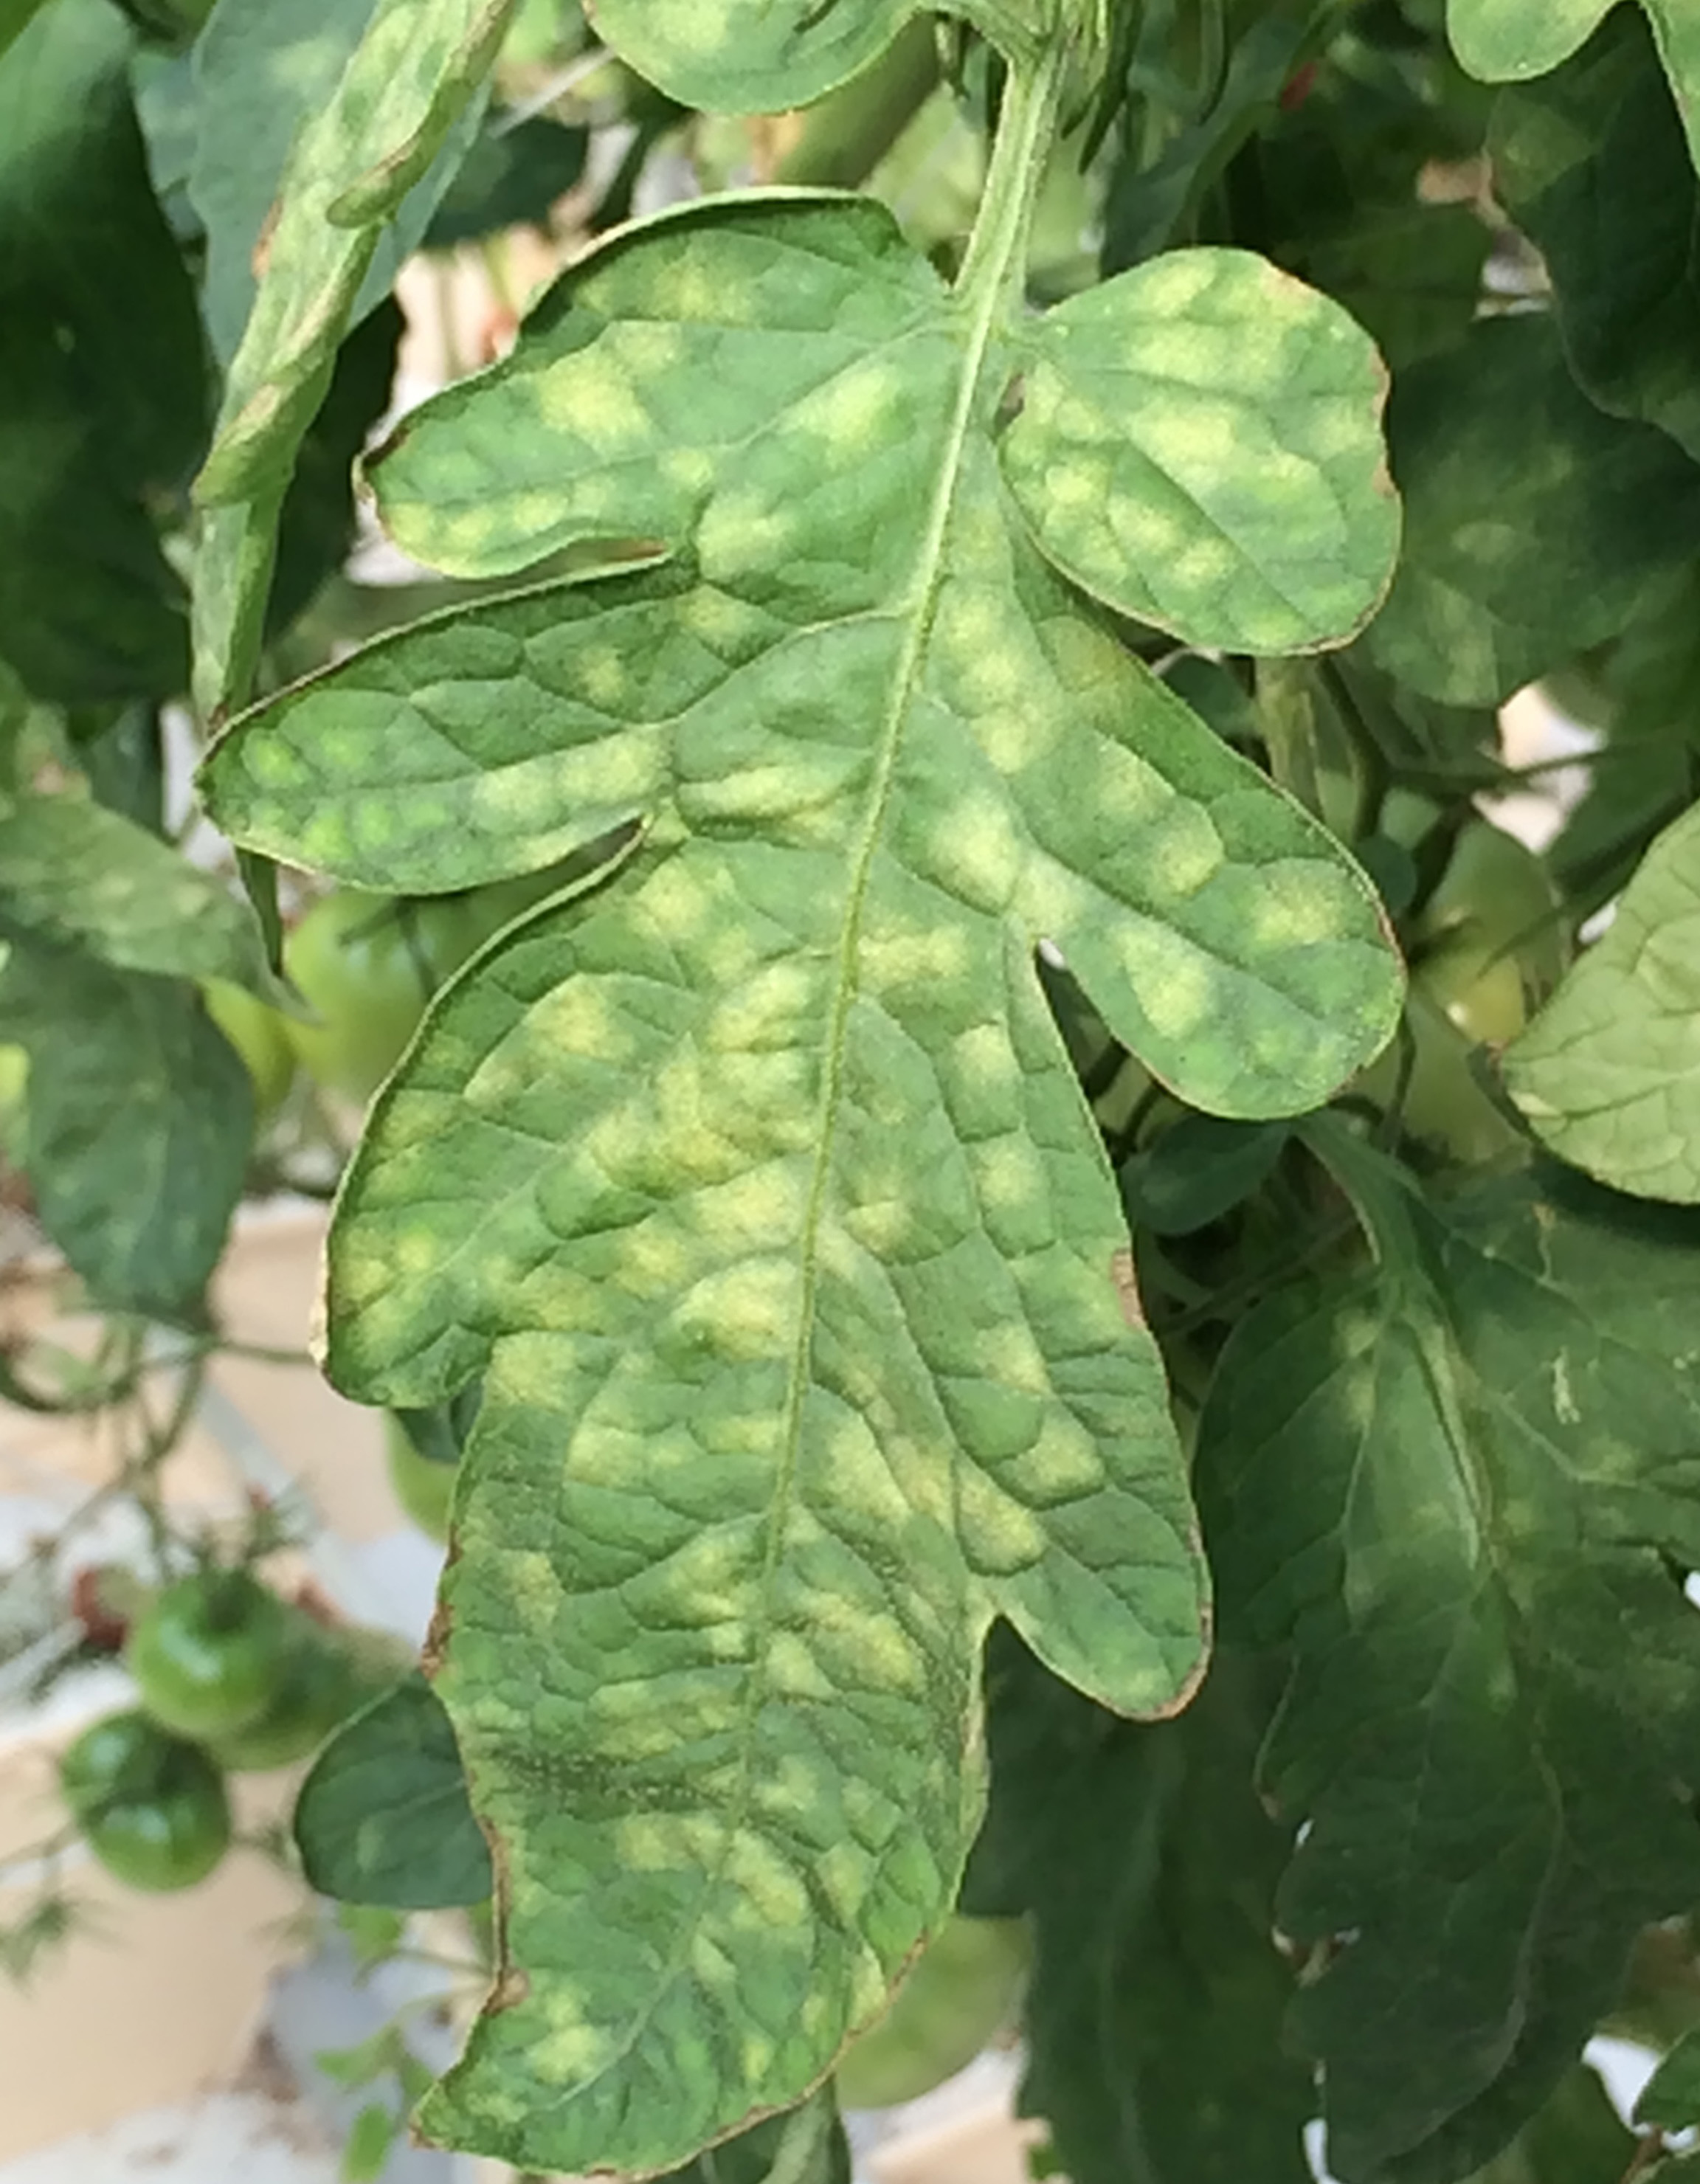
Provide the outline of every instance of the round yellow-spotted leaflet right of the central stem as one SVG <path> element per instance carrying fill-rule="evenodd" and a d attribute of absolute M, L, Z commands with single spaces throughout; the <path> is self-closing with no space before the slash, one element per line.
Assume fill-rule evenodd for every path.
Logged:
<path fill-rule="evenodd" d="M 1003 467 L 1075 583 L 1211 649 L 1313 651 L 1368 622 L 1398 555 L 1388 373 L 1337 304 L 1252 251 L 1171 251 L 1025 349 Z"/>

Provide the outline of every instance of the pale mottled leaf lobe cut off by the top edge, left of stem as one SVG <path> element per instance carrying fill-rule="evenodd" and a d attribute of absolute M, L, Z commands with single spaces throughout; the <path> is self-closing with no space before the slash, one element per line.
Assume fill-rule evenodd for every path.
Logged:
<path fill-rule="evenodd" d="M 597 31 L 680 105 L 806 107 L 876 61 L 924 0 L 597 0 Z"/>

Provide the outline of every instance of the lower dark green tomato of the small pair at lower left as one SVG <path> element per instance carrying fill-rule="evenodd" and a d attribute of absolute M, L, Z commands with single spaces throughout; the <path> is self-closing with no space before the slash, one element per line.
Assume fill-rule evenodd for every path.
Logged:
<path fill-rule="evenodd" d="M 144 1712 L 107 1714 L 59 1760 L 83 1841 L 133 1889 L 190 1889 L 229 1850 L 225 1778 Z"/>

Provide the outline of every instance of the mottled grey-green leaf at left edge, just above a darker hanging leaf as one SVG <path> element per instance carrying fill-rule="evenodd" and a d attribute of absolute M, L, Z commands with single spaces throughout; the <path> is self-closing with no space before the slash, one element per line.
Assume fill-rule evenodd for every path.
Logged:
<path fill-rule="evenodd" d="M 0 922 L 114 970 L 271 992 L 253 911 L 210 871 L 87 797 L 0 804 Z"/>

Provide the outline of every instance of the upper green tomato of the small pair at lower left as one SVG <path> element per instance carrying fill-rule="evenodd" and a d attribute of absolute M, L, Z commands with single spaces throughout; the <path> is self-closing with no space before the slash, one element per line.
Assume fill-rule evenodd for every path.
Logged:
<path fill-rule="evenodd" d="M 125 1647 L 142 1706 L 177 1736 L 216 1738 L 258 1721 L 288 1662 L 288 1612 L 245 1570 L 166 1586 Z"/>

